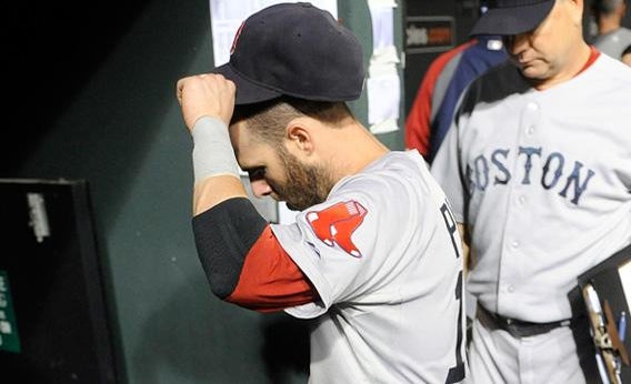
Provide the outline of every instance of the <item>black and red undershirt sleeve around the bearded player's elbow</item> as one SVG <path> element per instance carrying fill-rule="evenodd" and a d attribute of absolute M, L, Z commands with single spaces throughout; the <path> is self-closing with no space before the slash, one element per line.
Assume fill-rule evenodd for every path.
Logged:
<path fill-rule="evenodd" d="M 200 262 L 219 299 L 278 311 L 316 296 L 249 199 L 221 202 L 194 216 L 192 225 Z"/>

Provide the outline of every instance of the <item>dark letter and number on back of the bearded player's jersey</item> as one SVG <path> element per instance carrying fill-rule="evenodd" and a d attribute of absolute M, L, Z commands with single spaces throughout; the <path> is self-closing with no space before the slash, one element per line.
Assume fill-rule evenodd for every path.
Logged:
<path fill-rule="evenodd" d="M 455 253 L 455 259 L 460 259 L 461 253 L 460 249 L 458 247 L 457 242 L 460 242 L 460 233 L 458 232 L 458 225 L 455 224 L 455 219 L 453 218 L 453 213 L 451 213 L 451 209 L 449 208 L 449 203 L 445 201 L 442 203 L 440 208 L 440 213 L 442 214 L 442 219 L 444 220 L 444 225 L 447 226 L 447 231 L 451 238 L 451 244 L 453 245 L 453 252 Z M 458 281 L 455 283 L 455 300 L 459 303 L 458 310 L 458 324 L 455 324 L 458 330 L 458 335 L 455 337 L 455 365 L 449 368 L 447 373 L 447 378 L 444 380 L 445 384 L 451 383 L 460 383 L 464 380 L 464 358 L 462 357 L 463 351 L 463 337 L 464 337 L 464 330 L 462 323 L 462 312 L 463 312 L 463 302 L 462 302 L 462 269 L 458 273 Z"/>

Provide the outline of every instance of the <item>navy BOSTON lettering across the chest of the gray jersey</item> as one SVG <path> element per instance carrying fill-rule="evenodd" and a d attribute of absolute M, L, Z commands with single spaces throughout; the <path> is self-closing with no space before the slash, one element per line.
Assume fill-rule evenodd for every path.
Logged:
<path fill-rule="evenodd" d="M 589 182 L 595 174 L 594 171 L 584 169 L 580 161 L 567 164 L 565 156 L 560 152 L 544 155 L 541 146 L 520 146 L 515 170 L 511 174 L 508 164 L 513 161 L 509 149 L 497 149 L 490 156 L 475 156 L 467 164 L 469 194 L 483 192 L 490 186 L 507 185 L 514 175 L 519 175 L 521 179 L 515 180 L 521 185 L 535 184 L 539 179 L 539 185 L 544 190 L 557 188 L 560 196 L 579 205 L 581 195 L 588 190 Z"/>

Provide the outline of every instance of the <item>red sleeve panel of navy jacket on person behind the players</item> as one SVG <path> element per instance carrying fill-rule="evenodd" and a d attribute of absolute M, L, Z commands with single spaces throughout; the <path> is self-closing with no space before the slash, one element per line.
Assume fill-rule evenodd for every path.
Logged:
<path fill-rule="evenodd" d="M 471 41 L 468 41 L 441 53 L 428 68 L 405 120 L 405 149 L 415 148 L 423 156 L 428 155 L 430 151 L 431 100 L 435 81 L 449 60 L 470 44 Z"/>

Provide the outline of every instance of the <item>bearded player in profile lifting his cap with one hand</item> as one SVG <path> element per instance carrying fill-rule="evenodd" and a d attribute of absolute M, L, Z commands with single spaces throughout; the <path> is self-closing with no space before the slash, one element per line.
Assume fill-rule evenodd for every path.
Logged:
<path fill-rule="evenodd" d="M 177 87 L 213 293 L 313 319 L 310 382 L 461 382 L 455 222 L 421 155 L 389 151 L 347 108 L 362 92 L 358 40 L 310 3 L 271 6 L 213 72 Z M 296 223 L 259 215 L 238 164 L 256 195 L 300 211 Z"/>

